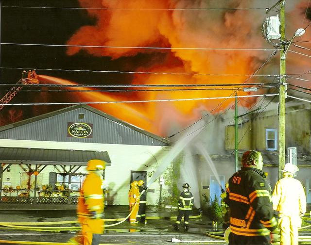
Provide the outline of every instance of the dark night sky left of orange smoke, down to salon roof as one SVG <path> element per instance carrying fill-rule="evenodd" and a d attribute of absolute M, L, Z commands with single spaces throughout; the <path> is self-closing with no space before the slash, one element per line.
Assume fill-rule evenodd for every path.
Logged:
<path fill-rule="evenodd" d="M 44 9 L 12 8 L 5 6 L 32 7 L 81 7 L 77 0 L 1 0 L 1 43 L 56 44 L 66 45 L 69 38 L 82 26 L 94 25 L 96 18 L 87 14 L 85 9 Z M 46 71 L 42 69 L 80 69 L 80 70 L 136 70 L 139 66 L 148 66 L 156 59 L 164 59 L 165 54 L 156 57 L 150 54 L 137 54 L 112 60 L 110 57 L 96 57 L 81 50 L 69 56 L 66 47 L 1 45 L 0 83 L 15 84 L 21 78 L 22 69 L 37 69 L 39 75 L 49 75 L 68 79 L 81 84 L 127 84 L 131 74 L 113 74 L 79 71 Z M 9 87 L 2 87 L 8 89 Z M 4 95 L 0 91 L 0 96 Z M 65 93 L 46 94 L 54 101 L 69 101 Z M 72 93 L 70 93 L 71 95 Z M 31 103 L 38 92 L 21 90 L 12 102 Z M 2 97 L 1 96 L 1 97 Z M 42 94 L 41 94 L 42 96 Z M 36 101 L 40 102 L 40 101 Z M 68 106 L 68 105 L 67 105 Z M 37 114 L 54 111 L 66 106 L 6 106 L 0 113 L 0 125 L 18 121 Z M 21 112 L 22 111 L 22 112 Z"/>

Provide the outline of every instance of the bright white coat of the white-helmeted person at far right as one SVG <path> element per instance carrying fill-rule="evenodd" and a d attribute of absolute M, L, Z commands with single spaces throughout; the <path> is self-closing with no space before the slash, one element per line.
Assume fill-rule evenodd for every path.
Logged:
<path fill-rule="evenodd" d="M 276 182 L 272 195 L 273 209 L 285 215 L 299 215 L 306 212 L 305 190 L 299 180 L 290 176 Z"/>

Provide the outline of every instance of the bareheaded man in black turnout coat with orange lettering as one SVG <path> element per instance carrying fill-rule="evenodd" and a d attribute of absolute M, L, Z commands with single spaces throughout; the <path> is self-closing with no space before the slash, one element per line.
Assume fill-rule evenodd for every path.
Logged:
<path fill-rule="evenodd" d="M 226 204 L 230 208 L 230 245 L 270 245 L 277 228 L 271 188 L 262 171 L 259 151 L 246 151 L 242 168 L 229 179 Z"/>

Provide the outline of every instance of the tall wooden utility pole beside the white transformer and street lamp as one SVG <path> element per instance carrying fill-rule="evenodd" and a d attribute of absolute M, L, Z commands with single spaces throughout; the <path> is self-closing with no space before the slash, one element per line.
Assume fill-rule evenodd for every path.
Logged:
<path fill-rule="evenodd" d="M 285 0 L 280 2 L 280 34 L 283 41 L 280 47 L 280 83 L 279 83 L 279 130 L 278 130 L 278 178 L 285 165 L 285 99 L 286 83 L 286 43 L 285 40 Z"/>

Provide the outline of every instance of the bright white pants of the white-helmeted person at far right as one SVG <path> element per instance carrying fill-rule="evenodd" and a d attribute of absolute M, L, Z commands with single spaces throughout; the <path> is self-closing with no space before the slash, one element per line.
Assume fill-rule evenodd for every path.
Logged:
<path fill-rule="evenodd" d="M 282 214 L 279 226 L 281 229 L 280 245 L 298 245 L 298 228 L 301 227 L 300 216 Z"/>

